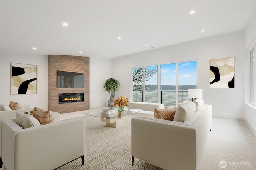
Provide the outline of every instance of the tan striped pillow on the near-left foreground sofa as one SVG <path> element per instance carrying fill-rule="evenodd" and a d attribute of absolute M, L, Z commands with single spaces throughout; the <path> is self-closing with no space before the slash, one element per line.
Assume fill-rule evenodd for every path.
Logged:
<path fill-rule="evenodd" d="M 57 122 L 56 116 L 54 113 L 52 113 L 52 111 L 50 111 L 50 110 L 45 111 L 38 107 L 34 107 L 33 117 L 38 119 L 38 121 L 41 123 L 41 125 L 46 125 L 46 124 Z"/>

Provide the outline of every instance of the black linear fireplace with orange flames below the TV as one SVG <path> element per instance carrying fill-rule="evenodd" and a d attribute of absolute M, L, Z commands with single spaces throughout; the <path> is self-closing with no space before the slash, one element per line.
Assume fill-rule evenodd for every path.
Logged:
<path fill-rule="evenodd" d="M 84 102 L 84 93 L 59 93 L 59 104 Z"/>

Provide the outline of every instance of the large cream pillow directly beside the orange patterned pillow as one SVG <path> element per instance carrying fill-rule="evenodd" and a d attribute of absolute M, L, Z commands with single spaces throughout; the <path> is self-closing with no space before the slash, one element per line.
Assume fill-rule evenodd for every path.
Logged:
<path fill-rule="evenodd" d="M 173 121 L 184 122 L 196 112 L 196 104 L 194 102 L 181 104 L 174 115 Z"/>

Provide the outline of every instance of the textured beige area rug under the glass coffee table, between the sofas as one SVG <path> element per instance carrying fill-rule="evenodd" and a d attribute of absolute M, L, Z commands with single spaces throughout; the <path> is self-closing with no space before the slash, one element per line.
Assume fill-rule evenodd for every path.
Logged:
<path fill-rule="evenodd" d="M 127 115 L 124 125 L 107 127 L 99 117 L 80 117 L 86 121 L 86 150 L 84 165 L 74 160 L 56 170 L 162 170 L 157 166 L 131 156 L 131 119 L 136 116 L 153 117 L 152 114 Z"/>

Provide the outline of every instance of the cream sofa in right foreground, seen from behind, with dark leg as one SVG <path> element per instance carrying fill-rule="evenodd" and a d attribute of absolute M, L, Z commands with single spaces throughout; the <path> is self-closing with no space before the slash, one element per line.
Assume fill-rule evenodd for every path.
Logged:
<path fill-rule="evenodd" d="M 212 106 L 205 104 L 184 122 L 134 117 L 132 164 L 135 157 L 166 170 L 198 170 L 211 126 Z"/>

